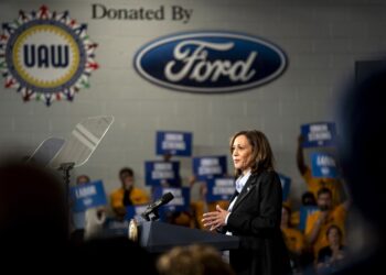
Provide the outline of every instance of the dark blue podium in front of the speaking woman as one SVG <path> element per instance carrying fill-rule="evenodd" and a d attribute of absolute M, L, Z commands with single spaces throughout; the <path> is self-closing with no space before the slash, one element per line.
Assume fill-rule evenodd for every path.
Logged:
<path fill-rule="evenodd" d="M 173 246 L 193 243 L 212 245 L 217 250 L 238 249 L 239 244 L 238 237 L 224 235 L 161 221 L 143 222 L 138 226 L 138 231 L 139 245 L 150 253 L 161 253 Z"/>

